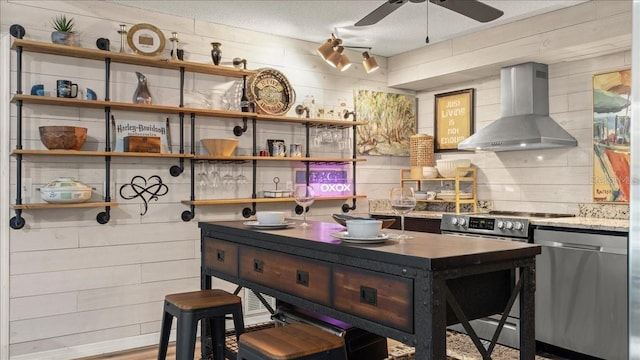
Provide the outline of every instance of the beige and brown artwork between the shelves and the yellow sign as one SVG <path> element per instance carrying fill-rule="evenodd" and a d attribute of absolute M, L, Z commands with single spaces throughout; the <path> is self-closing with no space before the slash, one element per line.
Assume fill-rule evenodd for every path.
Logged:
<path fill-rule="evenodd" d="M 358 155 L 409 156 L 417 129 L 416 98 L 372 90 L 354 90 L 355 113 L 367 125 L 356 129 Z"/>

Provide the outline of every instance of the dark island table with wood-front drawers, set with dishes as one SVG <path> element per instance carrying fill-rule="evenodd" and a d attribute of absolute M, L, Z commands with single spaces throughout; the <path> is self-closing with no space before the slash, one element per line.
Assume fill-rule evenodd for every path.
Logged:
<path fill-rule="evenodd" d="M 218 277 L 413 346 L 417 360 L 445 359 L 446 327 L 456 323 L 490 359 L 495 341 L 485 350 L 469 321 L 509 313 L 519 294 L 520 359 L 535 357 L 537 245 L 418 232 L 359 245 L 334 238 L 344 230 L 336 223 L 244 223 L 199 223 L 203 289 Z"/>

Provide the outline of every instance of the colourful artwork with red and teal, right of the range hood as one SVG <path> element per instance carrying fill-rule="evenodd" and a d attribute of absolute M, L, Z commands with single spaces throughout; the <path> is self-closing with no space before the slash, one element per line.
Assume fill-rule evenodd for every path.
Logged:
<path fill-rule="evenodd" d="M 631 70 L 593 76 L 593 200 L 628 202 Z"/>

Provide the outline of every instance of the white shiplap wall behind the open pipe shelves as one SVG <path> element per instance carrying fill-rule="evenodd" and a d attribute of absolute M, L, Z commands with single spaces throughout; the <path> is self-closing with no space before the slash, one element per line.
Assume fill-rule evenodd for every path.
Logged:
<path fill-rule="evenodd" d="M 180 47 L 187 60 L 210 63 L 212 41 L 222 42 L 223 62 L 234 57 L 248 60 L 249 68 L 272 67 L 284 72 L 301 101 L 313 95 L 316 103 L 334 106 L 338 99 L 353 104 L 354 89 L 391 91 L 386 84 L 386 61 L 379 58 L 382 69 L 366 75 L 361 64 L 354 64 L 345 73 L 330 68 L 315 54 L 318 44 L 232 29 L 193 19 L 126 8 L 102 1 L 0 1 L 3 31 L 11 24 L 25 27 L 27 39 L 49 41 L 48 21 L 64 13 L 76 20 L 80 45 L 93 48 L 95 39 L 108 37 L 112 49 L 119 49 L 119 24 L 147 22 L 161 28 L 168 36 L 177 31 Z M 170 46 L 167 46 L 170 49 Z M 6 51 L 6 49 L 4 49 Z M 168 51 L 168 50 L 167 50 Z M 167 55 L 165 51 L 164 55 Z M 353 53 L 357 59 L 359 54 Z M 15 92 L 15 53 L 11 52 L 11 92 Z M 35 83 L 45 84 L 52 91 L 56 79 L 70 79 L 81 89 L 92 88 L 104 98 L 103 64 L 99 62 L 24 54 L 23 91 Z M 147 76 L 154 103 L 177 104 L 178 73 L 175 71 L 139 68 L 122 64 L 112 65 L 111 99 L 130 101 L 136 87 L 135 71 Z M 6 74 L 8 75 L 8 74 Z M 205 90 L 228 86 L 237 79 L 213 76 L 186 76 L 186 89 Z M 397 90 L 395 91 L 397 92 Z M 11 106 L 12 132 L 3 134 L 2 142 L 15 145 L 15 106 Z M 117 118 L 163 120 L 162 114 L 114 112 Z M 85 148 L 104 148 L 104 113 L 86 109 L 56 107 L 24 107 L 24 146 L 42 148 L 37 126 L 40 124 L 69 124 L 86 126 L 89 139 Z M 196 122 L 199 137 L 233 137 L 231 130 L 239 122 L 226 119 L 205 119 Z M 177 117 L 172 117 L 174 150 L 177 150 Z M 190 130 L 187 121 L 185 131 Z M 248 134 L 249 135 L 249 134 Z M 303 129 L 295 125 L 259 124 L 258 144 L 266 139 L 282 138 L 287 143 L 302 142 Z M 189 141 L 187 136 L 187 142 Z M 190 144 L 187 144 L 190 145 Z M 240 138 L 239 149 L 251 146 L 250 136 Z M 316 154 L 349 156 L 330 148 L 314 149 Z M 72 161 L 70 163 L 70 161 Z M 384 174 L 390 166 L 404 166 L 400 160 L 378 158 L 371 165 L 362 166 L 359 179 L 382 182 L 365 184 L 363 190 L 380 185 L 389 187 L 393 176 Z M 174 160 L 113 159 L 112 198 L 120 206 L 112 208 L 106 225 L 95 221 L 102 209 L 26 211 L 26 226 L 11 230 L 10 235 L 10 354 L 15 359 L 65 359 L 114 351 L 132 346 L 157 343 L 162 299 L 165 294 L 199 288 L 199 229 L 198 221 L 242 219 L 242 206 L 211 206 L 196 208 L 196 218 L 183 222 L 180 214 L 188 207 L 180 203 L 189 198 L 189 172 L 173 178 L 168 169 Z M 38 201 L 35 188 L 58 176 L 74 176 L 101 193 L 104 187 L 104 163 L 98 159 L 25 158 L 23 175 L 31 179 L 33 187 L 25 192 L 25 202 Z M 262 165 L 261 165 L 262 166 Z M 350 166 L 349 166 L 350 168 Z M 230 167 L 223 166 L 227 171 Z M 15 161 L 11 161 L 15 174 Z M 396 173 L 395 171 L 393 172 Z M 245 166 L 244 174 L 251 175 Z M 280 176 L 283 184 L 290 175 L 288 164 L 267 164 L 261 168 L 258 190 L 272 189 L 273 176 Z M 123 200 L 118 194 L 121 185 L 135 175 L 159 175 L 169 187 L 169 193 L 149 204 L 146 215 L 140 200 Z M 11 194 L 3 196 L 4 205 L 15 199 L 15 179 Z M 367 189 L 368 188 L 368 189 Z M 218 189 L 219 190 L 219 189 Z M 209 194 L 218 197 L 246 197 L 250 187 Z M 325 217 L 339 211 L 341 202 L 318 202 L 311 214 Z M 262 205 L 259 208 L 267 206 Z M 293 204 L 268 206 L 292 212 Z M 361 201 L 358 211 L 367 211 Z M 292 213 L 293 215 L 293 213 Z M 13 216 L 13 214 L 10 214 Z M 3 259 L 5 260 L 5 259 Z M 216 286 L 228 286 L 215 284 Z M 2 321 L 7 321 L 2 319 Z"/>

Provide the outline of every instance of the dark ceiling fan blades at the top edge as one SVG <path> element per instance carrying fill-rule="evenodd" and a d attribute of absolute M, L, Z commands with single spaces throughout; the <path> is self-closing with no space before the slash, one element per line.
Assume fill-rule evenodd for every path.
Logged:
<path fill-rule="evenodd" d="M 422 3 L 426 0 L 387 0 L 377 9 L 355 23 L 355 26 L 373 25 L 384 19 L 407 2 Z M 429 2 L 470 17 L 479 22 L 493 21 L 504 13 L 478 0 L 429 0 Z"/>

